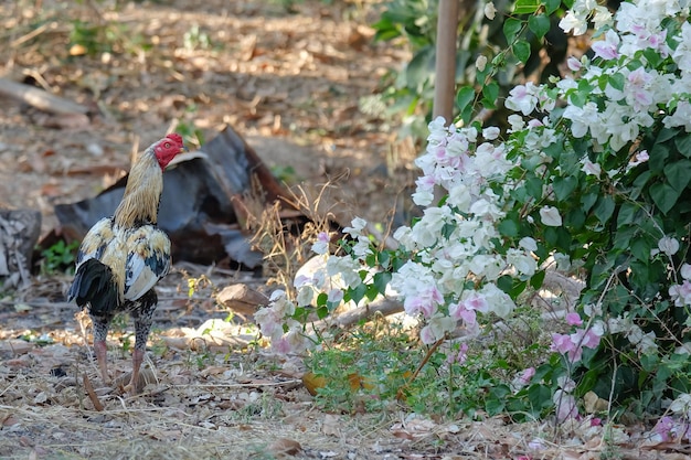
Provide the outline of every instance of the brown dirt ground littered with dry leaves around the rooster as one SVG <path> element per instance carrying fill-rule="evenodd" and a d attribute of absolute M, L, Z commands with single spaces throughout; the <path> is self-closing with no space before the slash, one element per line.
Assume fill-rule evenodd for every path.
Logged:
<path fill-rule="evenodd" d="M 371 41 L 368 24 L 380 4 L 286 4 L 0 3 L 0 77 L 92 108 L 86 118 L 51 117 L 0 97 L 0 207 L 40 210 L 45 234 L 56 225 L 55 204 L 111 184 L 132 150 L 176 126 L 209 140 L 231 125 L 293 183 L 334 182 L 328 200 L 340 218 L 381 222 L 414 180 L 415 151 L 361 106 L 408 54 Z M 78 47 L 79 36 L 91 39 Z M 554 439 L 546 424 L 435 421 L 401 407 L 320 411 L 301 384 L 298 357 L 254 344 L 256 331 L 242 319 L 223 321 L 227 311 L 211 299 L 213 286 L 188 296 L 188 278 L 201 275 L 215 287 L 262 289 L 266 281 L 177 264 L 159 288 L 150 384 L 136 397 L 100 383 L 91 331 L 65 301 L 68 276 L 38 276 L 30 289 L 0 299 L 0 458 L 589 459 L 606 448 L 583 435 L 535 450 L 536 437 Z M 131 324 L 111 332 L 109 365 L 123 382 Z"/>

